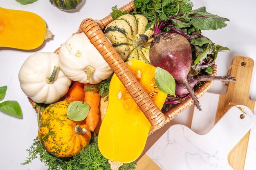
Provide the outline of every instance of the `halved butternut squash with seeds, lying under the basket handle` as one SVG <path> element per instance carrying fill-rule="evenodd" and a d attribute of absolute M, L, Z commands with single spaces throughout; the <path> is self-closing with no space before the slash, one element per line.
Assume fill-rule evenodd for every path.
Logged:
<path fill-rule="evenodd" d="M 155 67 L 139 60 L 126 62 L 142 87 L 161 109 L 167 94 L 155 85 Z M 111 161 L 132 162 L 142 153 L 150 122 L 114 74 L 109 88 L 108 108 L 99 130 L 99 150 Z"/>

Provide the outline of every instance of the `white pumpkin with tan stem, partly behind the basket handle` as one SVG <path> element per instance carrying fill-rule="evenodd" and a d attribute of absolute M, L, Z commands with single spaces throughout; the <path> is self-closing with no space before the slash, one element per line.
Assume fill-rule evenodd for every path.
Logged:
<path fill-rule="evenodd" d="M 84 33 L 72 35 L 61 46 L 60 68 L 73 81 L 97 84 L 112 74 L 112 69 Z"/>

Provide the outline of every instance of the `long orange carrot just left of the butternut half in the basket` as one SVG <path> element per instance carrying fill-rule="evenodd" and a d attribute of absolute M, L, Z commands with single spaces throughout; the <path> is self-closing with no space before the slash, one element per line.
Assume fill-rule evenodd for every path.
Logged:
<path fill-rule="evenodd" d="M 90 85 L 90 84 L 85 84 L 84 86 L 87 86 L 87 85 Z M 99 102 L 100 102 L 99 93 L 85 91 L 84 102 L 90 106 L 90 110 L 85 121 L 90 131 L 93 132 L 97 124 L 99 123 Z"/>

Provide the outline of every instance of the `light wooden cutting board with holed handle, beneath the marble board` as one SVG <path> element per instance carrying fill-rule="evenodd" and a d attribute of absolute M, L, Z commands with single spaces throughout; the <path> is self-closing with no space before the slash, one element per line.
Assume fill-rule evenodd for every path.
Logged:
<path fill-rule="evenodd" d="M 245 105 L 254 111 L 255 102 L 249 99 L 249 90 L 252 80 L 254 61 L 251 58 L 236 56 L 233 59 L 231 75 L 236 77 L 236 82 L 230 82 L 227 93 L 220 95 L 216 120 L 226 113 L 231 105 Z M 230 151 L 228 160 L 234 170 L 243 170 L 249 141 L 250 131 Z"/>

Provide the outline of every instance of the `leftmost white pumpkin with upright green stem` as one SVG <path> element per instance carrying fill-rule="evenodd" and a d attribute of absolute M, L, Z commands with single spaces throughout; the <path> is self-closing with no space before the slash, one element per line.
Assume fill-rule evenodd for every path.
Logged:
<path fill-rule="evenodd" d="M 64 96 L 71 84 L 58 69 L 58 54 L 36 52 L 20 68 L 19 81 L 22 91 L 34 102 L 51 104 Z"/>

